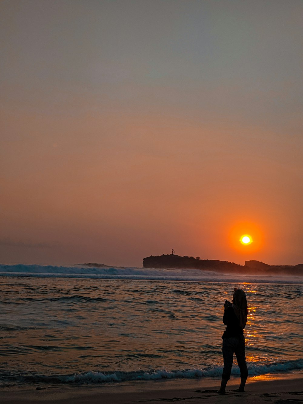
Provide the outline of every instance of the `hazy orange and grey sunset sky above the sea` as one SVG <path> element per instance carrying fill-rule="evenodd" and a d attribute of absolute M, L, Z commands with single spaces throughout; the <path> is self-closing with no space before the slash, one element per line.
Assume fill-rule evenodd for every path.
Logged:
<path fill-rule="evenodd" d="M 303 263 L 302 13 L 2 0 L 0 262 Z"/>

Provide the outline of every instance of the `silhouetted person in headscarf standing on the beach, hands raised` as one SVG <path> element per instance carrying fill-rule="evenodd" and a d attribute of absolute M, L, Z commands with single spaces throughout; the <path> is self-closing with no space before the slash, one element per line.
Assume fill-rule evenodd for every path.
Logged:
<path fill-rule="evenodd" d="M 248 376 L 245 358 L 245 339 L 243 329 L 247 322 L 247 301 L 244 290 L 234 289 L 233 303 L 225 300 L 223 323 L 226 325 L 222 335 L 223 361 L 221 387 L 218 393 L 225 394 L 225 387 L 230 378 L 231 366 L 234 360 L 234 353 L 240 368 L 241 383 L 235 391 L 244 391 L 244 386 Z"/>

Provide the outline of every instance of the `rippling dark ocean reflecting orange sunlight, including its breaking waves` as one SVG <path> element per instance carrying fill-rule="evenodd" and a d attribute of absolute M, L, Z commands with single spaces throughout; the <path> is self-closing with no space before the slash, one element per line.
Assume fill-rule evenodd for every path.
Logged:
<path fill-rule="evenodd" d="M 302 371 L 302 277 L 0 265 L 0 387 L 220 378 L 235 287 L 249 377 Z"/>

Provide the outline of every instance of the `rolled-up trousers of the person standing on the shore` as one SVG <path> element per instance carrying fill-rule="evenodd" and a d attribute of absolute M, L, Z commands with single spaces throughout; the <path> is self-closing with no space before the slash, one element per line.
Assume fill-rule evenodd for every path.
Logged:
<path fill-rule="evenodd" d="M 238 366 L 240 368 L 241 378 L 247 379 L 248 372 L 245 358 L 244 335 L 239 335 L 239 337 L 224 338 L 222 351 L 224 361 L 222 379 L 229 380 L 230 378 L 231 366 L 234 360 L 234 353 L 236 354 Z"/>

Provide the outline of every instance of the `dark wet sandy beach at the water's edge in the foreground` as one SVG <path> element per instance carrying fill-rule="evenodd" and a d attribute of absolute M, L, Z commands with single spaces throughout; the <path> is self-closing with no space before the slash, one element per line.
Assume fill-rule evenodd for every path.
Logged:
<path fill-rule="evenodd" d="M 184 404 L 203 402 L 215 403 L 274 403 L 300 404 L 303 403 L 303 374 L 300 372 L 263 375 L 251 377 L 246 384 L 246 391 L 233 391 L 238 385 L 238 379 L 233 378 L 227 385 L 225 395 L 219 395 L 219 379 L 209 380 L 180 380 L 158 382 L 135 382 L 128 384 L 102 385 L 99 387 L 48 387 L 37 390 L 24 388 L 3 388 L 1 391 L 2 404 L 56 403 L 84 404 L 111 403 L 166 403 L 182 401 Z"/>

